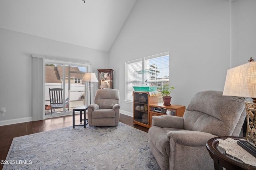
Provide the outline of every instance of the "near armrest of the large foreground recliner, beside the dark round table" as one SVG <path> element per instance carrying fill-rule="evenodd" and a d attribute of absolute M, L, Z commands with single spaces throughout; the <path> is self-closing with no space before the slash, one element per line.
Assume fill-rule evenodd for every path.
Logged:
<path fill-rule="evenodd" d="M 170 141 L 170 145 L 172 142 L 174 142 L 189 147 L 201 147 L 206 146 L 206 143 L 209 139 L 217 136 L 206 132 L 185 130 L 170 131 L 167 133 L 167 137 Z"/>

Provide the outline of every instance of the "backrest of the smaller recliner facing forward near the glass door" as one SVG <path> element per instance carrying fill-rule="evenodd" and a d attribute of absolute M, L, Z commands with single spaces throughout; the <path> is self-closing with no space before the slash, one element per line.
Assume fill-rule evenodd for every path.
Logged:
<path fill-rule="evenodd" d="M 114 104 L 120 104 L 119 90 L 98 89 L 95 94 L 94 103 L 98 104 L 100 109 L 112 109 Z"/>

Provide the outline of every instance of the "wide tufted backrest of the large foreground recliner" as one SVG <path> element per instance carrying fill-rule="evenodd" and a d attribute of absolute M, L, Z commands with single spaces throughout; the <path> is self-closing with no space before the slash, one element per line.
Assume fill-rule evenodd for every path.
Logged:
<path fill-rule="evenodd" d="M 196 93 L 183 115 L 184 128 L 217 136 L 238 136 L 246 116 L 246 98 L 222 94 L 220 91 Z"/>

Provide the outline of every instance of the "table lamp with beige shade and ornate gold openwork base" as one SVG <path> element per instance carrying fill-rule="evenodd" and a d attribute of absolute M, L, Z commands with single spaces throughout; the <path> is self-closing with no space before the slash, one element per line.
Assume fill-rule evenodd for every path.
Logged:
<path fill-rule="evenodd" d="M 238 141 L 238 145 L 256 157 L 256 62 L 252 58 L 248 63 L 228 70 L 223 96 L 252 98 L 253 103 L 245 102 L 246 140 Z"/>

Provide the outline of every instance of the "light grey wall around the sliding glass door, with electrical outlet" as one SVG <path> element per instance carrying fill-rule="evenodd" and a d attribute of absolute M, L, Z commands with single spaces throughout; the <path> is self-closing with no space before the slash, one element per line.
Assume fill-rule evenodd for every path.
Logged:
<path fill-rule="evenodd" d="M 91 72 L 108 62 L 108 53 L 0 28 L 0 125 L 32 116 L 32 54 L 92 62 Z M 92 96 L 98 88 L 94 84 Z"/>

